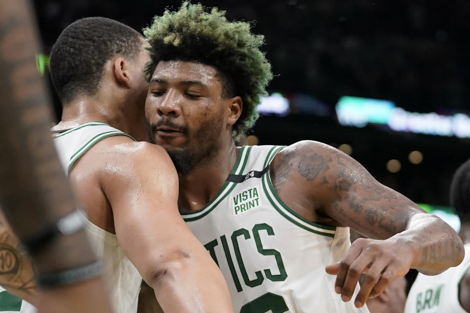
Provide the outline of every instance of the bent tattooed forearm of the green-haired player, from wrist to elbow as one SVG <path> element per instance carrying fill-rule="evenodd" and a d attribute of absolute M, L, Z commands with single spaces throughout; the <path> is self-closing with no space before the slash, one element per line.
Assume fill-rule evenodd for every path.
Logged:
<path fill-rule="evenodd" d="M 464 258 L 464 246 L 457 233 L 440 218 L 414 214 L 401 233 L 390 240 L 403 240 L 412 250 L 411 268 L 426 275 L 437 275 L 459 265 Z"/>

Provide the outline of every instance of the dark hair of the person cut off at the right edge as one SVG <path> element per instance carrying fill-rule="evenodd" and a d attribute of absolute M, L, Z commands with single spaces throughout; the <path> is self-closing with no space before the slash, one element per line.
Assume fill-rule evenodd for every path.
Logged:
<path fill-rule="evenodd" d="M 470 223 L 470 160 L 462 164 L 452 178 L 450 206 L 461 223 Z"/>

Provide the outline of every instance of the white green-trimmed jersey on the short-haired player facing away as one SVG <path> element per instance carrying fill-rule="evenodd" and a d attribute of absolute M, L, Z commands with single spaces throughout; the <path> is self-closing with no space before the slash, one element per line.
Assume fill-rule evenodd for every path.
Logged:
<path fill-rule="evenodd" d="M 55 134 L 54 144 L 65 172 L 69 173 L 75 161 L 98 141 L 115 135 L 131 137 L 100 122 L 81 124 Z M 120 248 L 116 234 L 107 232 L 90 221 L 87 222 L 88 239 L 103 263 L 105 283 L 111 294 L 115 312 L 137 312 L 141 275 Z"/>

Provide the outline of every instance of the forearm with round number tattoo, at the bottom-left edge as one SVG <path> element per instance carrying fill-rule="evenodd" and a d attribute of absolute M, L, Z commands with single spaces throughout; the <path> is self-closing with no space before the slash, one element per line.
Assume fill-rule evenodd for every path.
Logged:
<path fill-rule="evenodd" d="M 38 294 L 31 259 L 0 211 L 0 285 L 34 304 Z"/>

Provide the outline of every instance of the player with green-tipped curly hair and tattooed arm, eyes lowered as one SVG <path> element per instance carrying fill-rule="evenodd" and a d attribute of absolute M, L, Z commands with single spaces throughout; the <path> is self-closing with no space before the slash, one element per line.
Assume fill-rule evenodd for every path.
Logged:
<path fill-rule="evenodd" d="M 315 141 L 235 147 L 272 74 L 263 37 L 224 13 L 184 2 L 144 31 L 146 116 L 178 171 L 183 219 L 224 273 L 235 312 L 367 312 L 369 295 L 410 268 L 458 265 L 464 250 L 449 225 L 340 151 Z M 347 226 L 372 239 L 350 247 Z"/>

